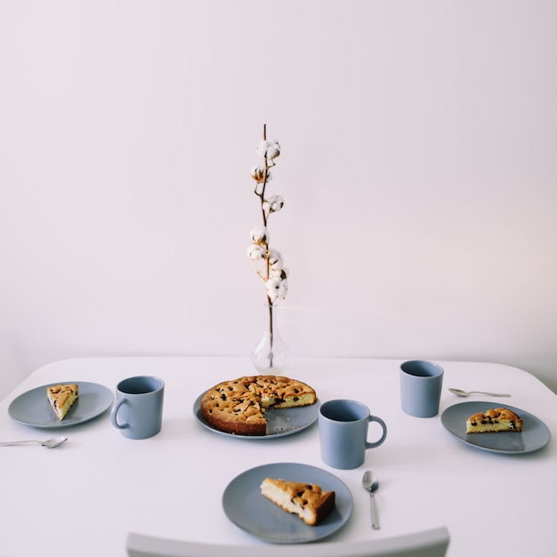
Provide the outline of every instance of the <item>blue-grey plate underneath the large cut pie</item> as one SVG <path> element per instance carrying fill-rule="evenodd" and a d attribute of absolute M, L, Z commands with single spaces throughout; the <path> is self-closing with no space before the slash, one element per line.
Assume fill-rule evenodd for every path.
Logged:
<path fill-rule="evenodd" d="M 221 430 L 217 430 L 211 424 L 207 423 L 205 417 L 201 413 L 201 399 L 203 399 L 204 395 L 205 392 L 200 394 L 193 405 L 193 414 L 198 419 L 199 424 L 203 425 L 211 432 L 221 433 L 221 435 L 236 437 L 238 439 L 270 440 L 287 435 L 294 435 L 310 427 L 310 425 L 317 420 L 319 413 L 319 400 L 310 406 L 298 408 L 267 408 L 265 410 L 267 435 L 238 435 L 221 432 Z"/>

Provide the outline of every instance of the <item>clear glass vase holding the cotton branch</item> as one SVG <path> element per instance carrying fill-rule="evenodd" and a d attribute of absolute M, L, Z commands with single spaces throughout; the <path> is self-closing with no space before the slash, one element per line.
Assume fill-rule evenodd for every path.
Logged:
<path fill-rule="evenodd" d="M 262 375 L 278 375 L 288 365 L 290 352 L 278 334 L 276 305 L 266 305 L 266 327 L 261 340 L 252 352 L 255 369 Z"/>

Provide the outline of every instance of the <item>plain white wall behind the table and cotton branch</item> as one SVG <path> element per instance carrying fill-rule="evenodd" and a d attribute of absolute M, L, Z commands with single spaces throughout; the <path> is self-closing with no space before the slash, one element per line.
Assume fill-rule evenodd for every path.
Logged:
<path fill-rule="evenodd" d="M 254 348 L 263 123 L 293 356 L 557 389 L 554 0 L 0 0 L 0 78 L 3 394 L 55 359 Z"/>

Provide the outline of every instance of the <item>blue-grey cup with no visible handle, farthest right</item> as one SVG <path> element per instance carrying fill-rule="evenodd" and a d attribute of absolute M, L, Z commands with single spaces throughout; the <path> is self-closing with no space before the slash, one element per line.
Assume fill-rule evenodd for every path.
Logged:
<path fill-rule="evenodd" d="M 400 365 L 400 405 L 409 416 L 437 416 L 442 386 L 439 364 L 412 359 Z"/>

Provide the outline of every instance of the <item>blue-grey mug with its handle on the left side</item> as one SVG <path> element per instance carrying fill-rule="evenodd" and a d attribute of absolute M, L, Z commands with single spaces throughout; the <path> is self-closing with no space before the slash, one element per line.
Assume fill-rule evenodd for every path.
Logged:
<path fill-rule="evenodd" d="M 151 375 L 128 377 L 117 384 L 112 425 L 127 439 L 147 439 L 160 432 L 165 382 Z"/>

